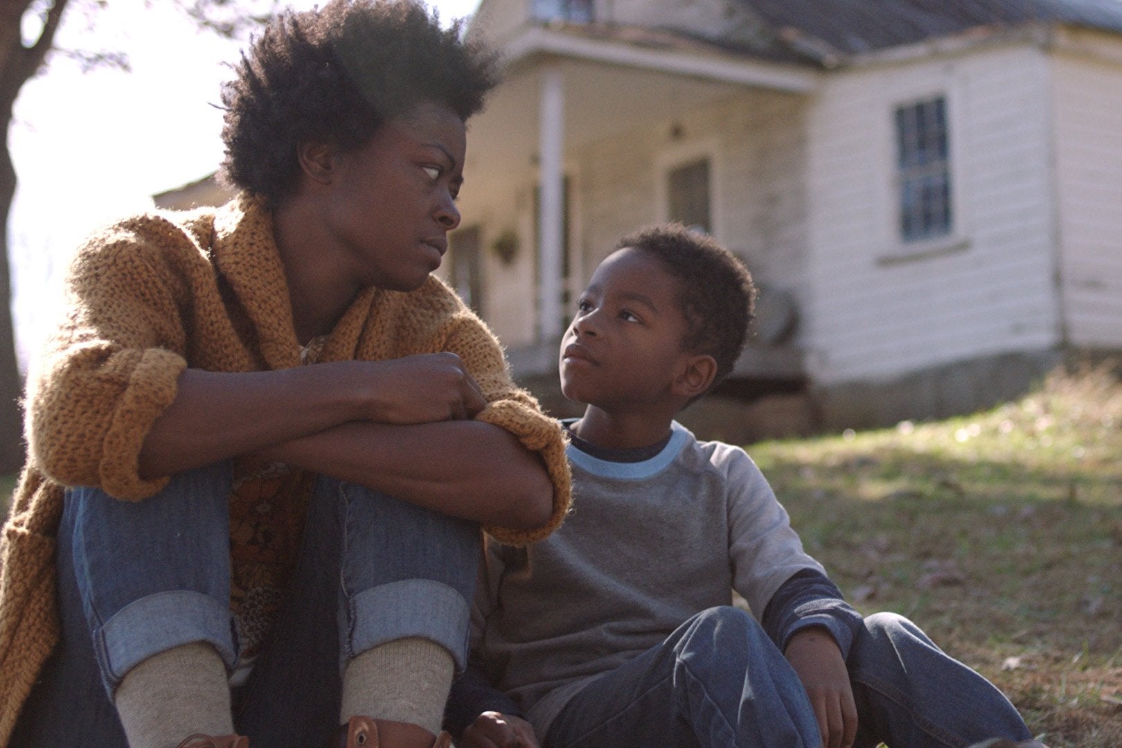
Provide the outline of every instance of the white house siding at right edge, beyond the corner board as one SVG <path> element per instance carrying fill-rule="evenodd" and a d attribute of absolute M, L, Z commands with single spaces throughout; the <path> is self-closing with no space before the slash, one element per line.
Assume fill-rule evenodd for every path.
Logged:
<path fill-rule="evenodd" d="M 1119 59 L 1122 43 L 1111 39 Z M 1059 53 L 1051 95 L 1068 342 L 1122 348 L 1122 62 Z"/>

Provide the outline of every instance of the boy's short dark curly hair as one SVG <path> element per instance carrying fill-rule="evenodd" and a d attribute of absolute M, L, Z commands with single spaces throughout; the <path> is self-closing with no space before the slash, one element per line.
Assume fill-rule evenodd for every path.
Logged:
<path fill-rule="evenodd" d="M 732 372 L 747 341 L 756 296 L 752 274 L 716 239 L 681 223 L 650 225 L 616 242 L 616 249 L 627 247 L 654 255 L 678 278 L 687 324 L 682 345 L 717 361 L 712 389 Z"/>

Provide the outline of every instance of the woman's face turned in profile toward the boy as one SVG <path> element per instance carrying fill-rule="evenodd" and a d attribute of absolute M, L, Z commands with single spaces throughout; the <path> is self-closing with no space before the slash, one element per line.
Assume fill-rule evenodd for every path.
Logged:
<path fill-rule="evenodd" d="M 424 102 L 333 156 L 327 228 L 359 285 L 413 290 L 440 267 L 466 147 L 459 116 Z"/>

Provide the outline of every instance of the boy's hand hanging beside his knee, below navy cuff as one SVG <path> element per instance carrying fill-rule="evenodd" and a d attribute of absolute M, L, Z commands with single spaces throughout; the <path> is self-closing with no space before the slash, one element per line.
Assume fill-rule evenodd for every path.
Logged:
<path fill-rule="evenodd" d="M 834 637 L 820 627 L 797 631 L 783 653 L 815 708 L 826 748 L 850 748 L 857 737 L 857 707 L 849 672 Z"/>

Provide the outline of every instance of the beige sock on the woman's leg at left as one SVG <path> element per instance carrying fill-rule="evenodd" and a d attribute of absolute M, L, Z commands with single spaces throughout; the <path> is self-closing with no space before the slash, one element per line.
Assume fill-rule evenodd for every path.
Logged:
<path fill-rule="evenodd" d="M 175 748 L 196 732 L 233 735 L 226 664 L 203 641 L 141 662 L 125 674 L 113 703 L 129 748 Z"/>

